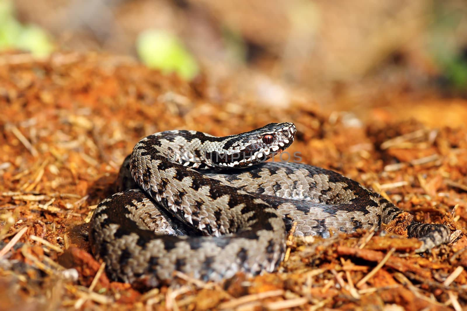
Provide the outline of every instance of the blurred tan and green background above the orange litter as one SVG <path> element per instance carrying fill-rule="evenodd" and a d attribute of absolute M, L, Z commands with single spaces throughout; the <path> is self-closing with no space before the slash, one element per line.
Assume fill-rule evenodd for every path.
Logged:
<path fill-rule="evenodd" d="M 467 1 L 0 0 L 0 49 L 101 51 L 240 100 L 358 113 L 467 96 Z"/>

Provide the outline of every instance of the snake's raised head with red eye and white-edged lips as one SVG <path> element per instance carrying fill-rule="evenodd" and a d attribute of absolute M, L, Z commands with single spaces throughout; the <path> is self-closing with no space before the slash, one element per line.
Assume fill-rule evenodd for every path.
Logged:
<path fill-rule="evenodd" d="M 293 123 L 269 123 L 259 129 L 227 136 L 224 152 L 217 152 L 213 166 L 251 166 L 283 152 L 292 144 L 297 129 Z"/>

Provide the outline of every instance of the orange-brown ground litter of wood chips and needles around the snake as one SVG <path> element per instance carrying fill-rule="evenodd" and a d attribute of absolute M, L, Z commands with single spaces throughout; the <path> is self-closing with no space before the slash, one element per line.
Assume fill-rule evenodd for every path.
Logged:
<path fill-rule="evenodd" d="M 223 87 L 122 57 L 2 55 L 0 310 L 465 308 L 467 128 L 399 122 L 397 113 L 361 125 L 307 102 L 239 102 Z M 109 282 L 81 232 L 141 137 L 176 128 L 227 135 L 275 121 L 297 125 L 290 154 L 373 187 L 418 221 L 448 224 L 453 241 L 419 256 L 416 240 L 372 231 L 290 238 L 280 270 L 253 279 L 206 284 L 179 274 L 177 285 L 149 291 Z M 392 232 L 403 234 L 407 217 Z"/>

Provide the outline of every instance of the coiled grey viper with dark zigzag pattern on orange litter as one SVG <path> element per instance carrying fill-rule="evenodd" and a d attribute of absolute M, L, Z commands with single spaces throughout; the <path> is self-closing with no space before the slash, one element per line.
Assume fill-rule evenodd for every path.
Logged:
<path fill-rule="evenodd" d="M 92 254 L 114 281 L 149 287 L 176 271 L 202 281 L 275 271 L 287 230 L 330 236 L 387 224 L 403 211 L 340 173 L 276 161 L 297 134 L 270 123 L 225 137 L 162 131 L 142 138 L 119 172 L 120 192 L 89 223 Z M 425 252 L 449 240 L 443 224 L 411 221 Z"/>

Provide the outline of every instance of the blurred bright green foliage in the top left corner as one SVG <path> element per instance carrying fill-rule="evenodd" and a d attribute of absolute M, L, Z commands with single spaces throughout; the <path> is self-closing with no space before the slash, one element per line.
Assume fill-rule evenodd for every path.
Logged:
<path fill-rule="evenodd" d="M 45 57 L 53 50 L 49 35 L 34 25 L 22 25 L 14 17 L 10 0 L 0 0 L 0 50 L 20 49 Z"/>

